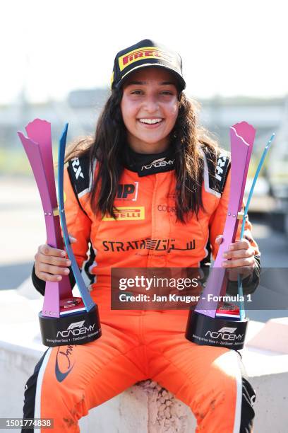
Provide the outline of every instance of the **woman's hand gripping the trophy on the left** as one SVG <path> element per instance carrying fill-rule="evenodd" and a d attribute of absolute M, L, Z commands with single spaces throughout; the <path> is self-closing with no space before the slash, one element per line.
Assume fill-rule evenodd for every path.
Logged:
<path fill-rule="evenodd" d="M 69 236 L 70 243 L 77 242 L 76 238 Z M 53 248 L 47 243 L 40 245 L 35 254 L 35 274 L 44 281 L 61 281 L 61 275 L 68 275 L 71 261 L 67 258 L 65 250 Z"/>

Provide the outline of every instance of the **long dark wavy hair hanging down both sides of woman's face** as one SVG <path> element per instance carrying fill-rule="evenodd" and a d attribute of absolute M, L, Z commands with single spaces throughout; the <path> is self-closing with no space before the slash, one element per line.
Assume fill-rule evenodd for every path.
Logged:
<path fill-rule="evenodd" d="M 121 163 L 126 142 L 126 127 L 121 115 L 122 89 L 113 89 L 98 119 L 95 137 L 85 138 L 69 146 L 65 161 L 73 156 L 89 156 L 92 172 L 90 207 L 95 214 L 115 217 L 114 199 L 124 166 Z M 185 93 L 179 93 L 179 114 L 170 134 L 170 146 L 175 151 L 176 218 L 186 222 L 191 212 L 198 216 L 203 207 L 203 146 L 208 147 L 210 158 L 217 161 L 217 142 L 198 125 L 199 105 Z M 97 159 L 97 174 L 94 161 Z"/>

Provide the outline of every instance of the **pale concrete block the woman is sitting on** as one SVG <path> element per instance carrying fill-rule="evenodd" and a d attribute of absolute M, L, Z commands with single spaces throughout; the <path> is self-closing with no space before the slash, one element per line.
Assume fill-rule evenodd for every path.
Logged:
<path fill-rule="evenodd" d="M 0 291 L 0 417 L 22 416 L 25 382 L 46 349 L 37 319 L 42 296 L 31 284 L 28 279 L 18 290 Z M 248 344 L 264 326 L 249 323 Z M 287 431 L 288 355 L 248 345 L 241 354 L 257 393 L 254 433 Z M 195 428 L 190 408 L 152 381 L 128 388 L 80 420 L 83 433 L 188 433 Z"/>

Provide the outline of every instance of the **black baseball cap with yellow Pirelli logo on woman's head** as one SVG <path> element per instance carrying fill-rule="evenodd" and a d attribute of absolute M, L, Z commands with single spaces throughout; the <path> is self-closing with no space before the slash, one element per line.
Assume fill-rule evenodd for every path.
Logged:
<path fill-rule="evenodd" d="M 116 54 L 111 78 L 111 88 L 122 86 L 133 71 L 146 67 L 162 67 L 171 71 L 182 91 L 186 83 L 182 76 L 182 59 L 177 52 L 150 39 L 143 39 Z"/>

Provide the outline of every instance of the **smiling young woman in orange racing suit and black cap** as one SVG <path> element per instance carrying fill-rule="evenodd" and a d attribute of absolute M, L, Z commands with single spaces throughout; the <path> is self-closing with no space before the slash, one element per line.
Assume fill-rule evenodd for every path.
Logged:
<path fill-rule="evenodd" d="M 199 431 L 251 432 L 255 395 L 238 352 L 186 340 L 187 310 L 111 308 L 112 267 L 199 267 L 221 243 L 229 154 L 198 126 L 184 88 L 179 54 L 151 40 L 122 50 L 95 137 L 66 157 L 68 230 L 79 267 L 90 244 L 85 270 L 102 337 L 49 348 L 28 380 L 24 417 L 52 417 L 54 432 L 78 432 L 90 408 L 145 379 L 190 406 Z M 246 291 L 258 284 L 258 255 L 247 220 L 224 261 L 245 267 Z M 38 248 L 32 279 L 42 294 L 45 281 L 70 272 L 64 256 Z"/>

